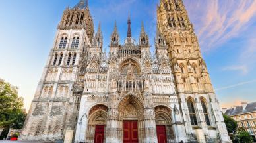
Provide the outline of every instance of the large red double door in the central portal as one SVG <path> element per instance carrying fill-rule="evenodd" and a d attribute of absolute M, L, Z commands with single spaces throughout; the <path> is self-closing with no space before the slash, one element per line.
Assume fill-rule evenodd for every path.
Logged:
<path fill-rule="evenodd" d="M 137 121 L 123 121 L 123 143 L 138 143 Z"/>

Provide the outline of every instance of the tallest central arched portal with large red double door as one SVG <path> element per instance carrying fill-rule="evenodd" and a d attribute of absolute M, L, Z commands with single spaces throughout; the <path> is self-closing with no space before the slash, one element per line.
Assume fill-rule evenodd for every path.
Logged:
<path fill-rule="evenodd" d="M 118 106 L 118 119 L 123 129 L 123 143 L 143 142 L 144 106 L 137 96 L 127 95 L 121 100 Z"/>

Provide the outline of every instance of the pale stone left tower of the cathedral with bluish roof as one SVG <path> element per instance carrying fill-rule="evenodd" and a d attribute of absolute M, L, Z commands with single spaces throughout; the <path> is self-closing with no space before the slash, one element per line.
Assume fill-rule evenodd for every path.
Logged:
<path fill-rule="evenodd" d="M 93 34 L 88 0 L 65 9 L 20 140 L 62 140 L 65 131 L 75 129 L 80 99 L 73 87 Z"/>

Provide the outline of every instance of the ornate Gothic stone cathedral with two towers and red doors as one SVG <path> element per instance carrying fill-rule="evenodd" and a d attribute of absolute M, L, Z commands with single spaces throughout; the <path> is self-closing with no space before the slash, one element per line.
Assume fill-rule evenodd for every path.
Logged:
<path fill-rule="evenodd" d="M 131 22 L 106 53 L 88 0 L 65 9 L 19 140 L 231 142 L 183 1 L 160 0 L 154 53 Z"/>

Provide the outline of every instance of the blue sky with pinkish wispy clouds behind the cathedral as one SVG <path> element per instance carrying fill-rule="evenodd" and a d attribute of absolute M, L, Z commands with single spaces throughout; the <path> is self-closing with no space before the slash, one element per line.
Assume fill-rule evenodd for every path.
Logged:
<path fill-rule="evenodd" d="M 63 10 L 79 0 L 1 0 L 0 78 L 17 86 L 29 109 Z M 222 107 L 256 101 L 256 1 L 183 0 L 193 23 L 212 85 Z M 115 20 L 121 41 L 127 16 L 139 39 L 141 22 L 154 51 L 159 0 L 89 0 L 97 30 L 101 22 L 108 51 Z"/>

